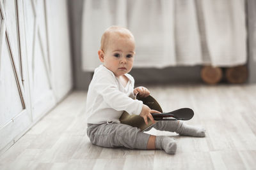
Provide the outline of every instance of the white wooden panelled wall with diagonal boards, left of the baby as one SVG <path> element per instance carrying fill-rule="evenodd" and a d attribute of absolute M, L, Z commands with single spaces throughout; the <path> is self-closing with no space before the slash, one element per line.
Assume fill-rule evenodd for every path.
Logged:
<path fill-rule="evenodd" d="M 67 1 L 0 0 L 0 153 L 72 89 Z"/>

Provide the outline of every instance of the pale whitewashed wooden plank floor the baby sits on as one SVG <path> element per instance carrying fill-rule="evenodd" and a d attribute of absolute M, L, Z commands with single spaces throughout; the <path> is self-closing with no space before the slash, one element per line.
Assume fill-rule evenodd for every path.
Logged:
<path fill-rule="evenodd" d="M 256 169 L 256 85 L 148 87 L 164 111 L 189 107 L 206 138 L 172 132 L 177 153 L 101 148 L 86 136 L 86 92 L 72 92 L 0 157 L 0 169 Z"/>

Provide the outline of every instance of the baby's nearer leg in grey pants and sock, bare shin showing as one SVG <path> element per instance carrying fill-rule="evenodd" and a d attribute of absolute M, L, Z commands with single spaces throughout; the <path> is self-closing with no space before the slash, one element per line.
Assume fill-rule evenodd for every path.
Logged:
<path fill-rule="evenodd" d="M 88 137 L 94 145 L 115 148 L 124 146 L 130 149 L 162 149 L 174 154 L 176 143 L 165 136 L 150 136 L 136 127 L 125 124 L 88 125 Z"/>

